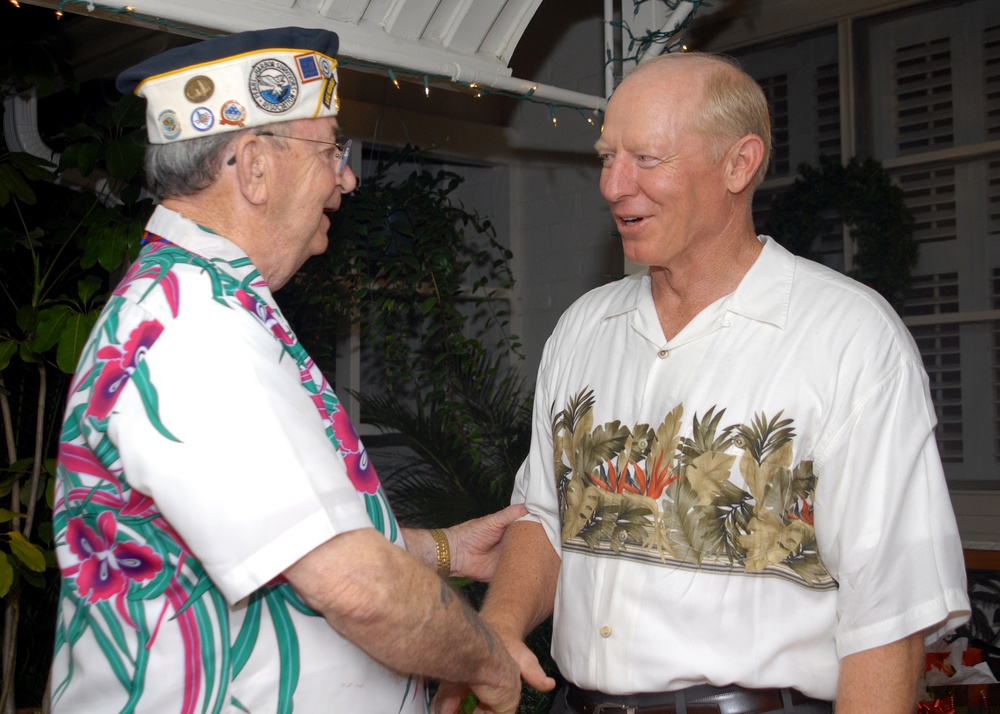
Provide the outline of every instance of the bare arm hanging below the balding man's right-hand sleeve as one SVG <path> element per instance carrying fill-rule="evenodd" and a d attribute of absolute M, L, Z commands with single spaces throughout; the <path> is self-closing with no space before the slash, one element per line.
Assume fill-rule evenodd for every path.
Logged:
<path fill-rule="evenodd" d="M 848 655 L 840 663 L 837 714 L 912 714 L 924 661 L 923 634 Z"/>

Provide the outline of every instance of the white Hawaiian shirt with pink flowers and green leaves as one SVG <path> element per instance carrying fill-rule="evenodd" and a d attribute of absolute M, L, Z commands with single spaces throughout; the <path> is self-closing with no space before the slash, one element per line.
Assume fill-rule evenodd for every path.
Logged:
<path fill-rule="evenodd" d="M 427 711 L 281 573 L 402 536 L 357 433 L 235 245 L 157 208 L 70 387 L 59 712 Z"/>

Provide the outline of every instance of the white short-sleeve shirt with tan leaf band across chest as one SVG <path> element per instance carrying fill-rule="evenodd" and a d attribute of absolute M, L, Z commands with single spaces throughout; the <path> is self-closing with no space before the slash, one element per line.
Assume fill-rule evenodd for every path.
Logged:
<path fill-rule="evenodd" d="M 578 686 L 832 700 L 840 658 L 967 617 L 909 333 L 761 240 L 672 340 L 642 273 L 583 296 L 546 345 L 514 500 L 561 555 L 553 654 Z"/>

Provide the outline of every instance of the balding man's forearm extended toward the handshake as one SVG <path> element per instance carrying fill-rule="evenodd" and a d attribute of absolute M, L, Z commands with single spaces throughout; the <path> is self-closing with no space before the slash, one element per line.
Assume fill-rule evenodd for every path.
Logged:
<path fill-rule="evenodd" d="M 512 524 L 481 614 L 491 627 L 524 639 L 552 614 L 561 560 L 541 525 Z"/>

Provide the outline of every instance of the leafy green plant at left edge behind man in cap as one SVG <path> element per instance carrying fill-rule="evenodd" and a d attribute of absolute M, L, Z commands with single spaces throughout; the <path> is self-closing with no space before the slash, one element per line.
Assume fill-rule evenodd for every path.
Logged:
<path fill-rule="evenodd" d="M 55 616 L 51 489 L 62 397 L 151 209 L 129 184 L 143 126 L 141 105 L 125 98 L 53 137 L 58 166 L 0 149 L 0 711 L 13 706 L 15 682 L 28 685 L 32 704 L 45 689 L 51 637 L 33 635 L 48 633 Z M 26 608 L 36 610 L 22 620 Z M 33 629 L 19 636 L 22 621 Z"/>

